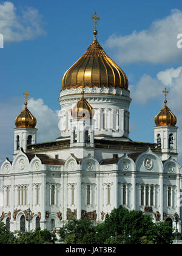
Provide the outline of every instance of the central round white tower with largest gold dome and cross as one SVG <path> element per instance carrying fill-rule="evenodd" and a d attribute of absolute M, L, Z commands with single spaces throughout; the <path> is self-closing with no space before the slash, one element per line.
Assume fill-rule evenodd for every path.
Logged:
<path fill-rule="evenodd" d="M 70 137 L 70 110 L 84 98 L 95 110 L 95 137 L 129 141 L 129 83 L 124 71 L 104 52 L 96 38 L 96 20 L 93 41 L 87 51 L 62 78 L 59 98 L 61 105 L 61 139 Z"/>

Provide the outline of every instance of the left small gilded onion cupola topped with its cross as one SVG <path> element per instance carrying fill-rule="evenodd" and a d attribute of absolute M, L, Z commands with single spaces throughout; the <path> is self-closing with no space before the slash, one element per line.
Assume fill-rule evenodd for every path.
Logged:
<path fill-rule="evenodd" d="M 25 108 L 15 119 L 16 128 L 35 128 L 36 126 L 36 118 L 32 115 L 32 113 L 27 108 L 27 91 L 24 93 L 25 95 Z"/>

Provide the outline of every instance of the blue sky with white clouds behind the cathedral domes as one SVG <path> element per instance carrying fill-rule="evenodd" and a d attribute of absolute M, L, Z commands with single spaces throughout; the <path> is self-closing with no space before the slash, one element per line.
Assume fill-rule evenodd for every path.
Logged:
<path fill-rule="evenodd" d="M 176 45 L 182 34 L 180 0 L 0 1 L 0 160 L 12 158 L 14 120 L 25 90 L 33 98 L 29 109 L 38 119 L 38 141 L 58 137 L 61 79 L 92 43 L 94 12 L 101 18 L 99 43 L 129 78 L 130 138 L 153 142 L 154 117 L 163 107 L 165 87 L 182 138 L 182 48 Z M 178 147 L 182 155 L 182 145 Z"/>

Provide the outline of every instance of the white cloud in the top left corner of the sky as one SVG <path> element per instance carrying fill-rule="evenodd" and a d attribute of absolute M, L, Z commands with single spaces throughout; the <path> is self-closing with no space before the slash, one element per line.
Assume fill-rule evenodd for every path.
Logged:
<path fill-rule="evenodd" d="M 0 34 L 4 41 L 32 40 L 45 35 L 43 25 L 42 15 L 33 7 L 26 7 L 19 15 L 12 2 L 0 4 Z"/>

